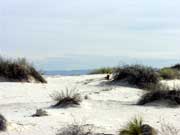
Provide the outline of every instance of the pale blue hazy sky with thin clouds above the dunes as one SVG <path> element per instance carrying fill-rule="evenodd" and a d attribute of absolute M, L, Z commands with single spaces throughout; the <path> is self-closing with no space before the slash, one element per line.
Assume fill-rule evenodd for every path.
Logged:
<path fill-rule="evenodd" d="M 179 0 L 0 0 L 0 55 L 45 70 L 180 61 Z"/>

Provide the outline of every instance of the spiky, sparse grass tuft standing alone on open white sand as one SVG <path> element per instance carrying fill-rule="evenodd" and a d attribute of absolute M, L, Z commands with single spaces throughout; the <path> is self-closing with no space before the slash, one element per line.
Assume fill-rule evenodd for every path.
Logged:
<path fill-rule="evenodd" d="M 55 91 L 50 96 L 57 102 L 53 107 L 75 106 L 80 105 L 81 102 L 81 95 L 75 88 L 66 88 L 66 90 L 62 90 L 61 92 Z"/>

